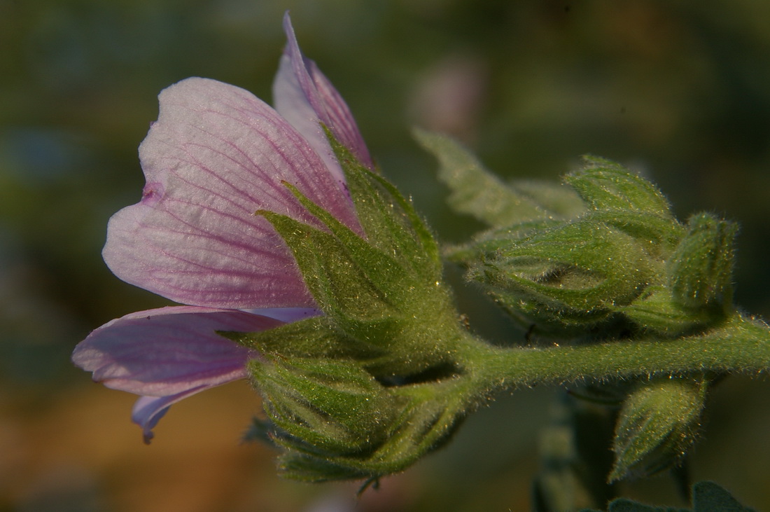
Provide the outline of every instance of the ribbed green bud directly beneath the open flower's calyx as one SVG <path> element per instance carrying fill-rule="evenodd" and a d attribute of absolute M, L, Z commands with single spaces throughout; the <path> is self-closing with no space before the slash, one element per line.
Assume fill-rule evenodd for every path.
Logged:
<path fill-rule="evenodd" d="M 296 363 L 288 376 L 287 363 L 255 370 L 259 385 L 268 384 L 267 428 L 284 449 L 280 470 L 296 480 L 376 479 L 403 470 L 443 446 L 469 407 L 461 378 L 383 387 L 349 363 Z"/>

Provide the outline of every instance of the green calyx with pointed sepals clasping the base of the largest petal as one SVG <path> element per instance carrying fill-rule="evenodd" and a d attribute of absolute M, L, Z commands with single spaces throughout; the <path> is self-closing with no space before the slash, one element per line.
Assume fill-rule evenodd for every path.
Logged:
<path fill-rule="evenodd" d="M 334 142 L 363 236 L 286 184 L 326 229 L 273 212 L 273 224 L 320 309 L 351 343 L 377 347 L 376 376 L 419 373 L 451 360 L 461 329 L 443 284 L 438 246 L 411 202 Z"/>

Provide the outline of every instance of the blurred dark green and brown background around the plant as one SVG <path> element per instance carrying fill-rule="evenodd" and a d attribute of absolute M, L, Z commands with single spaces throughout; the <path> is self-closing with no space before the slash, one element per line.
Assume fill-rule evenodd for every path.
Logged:
<path fill-rule="evenodd" d="M 450 133 L 506 178 L 556 179 L 590 152 L 646 173 L 681 219 L 740 223 L 736 300 L 770 318 L 768 2 L 0 0 L 0 510 L 353 510 L 357 484 L 280 480 L 272 450 L 239 442 L 260 410 L 246 383 L 175 405 L 147 447 L 135 397 L 69 362 L 89 330 L 167 304 L 100 256 L 109 216 L 139 200 L 158 92 L 199 75 L 269 101 L 286 9 L 440 239 L 480 226 L 444 206 L 411 126 Z M 489 303 L 458 295 L 475 328 L 504 338 Z M 528 510 L 555 393 L 500 397 L 358 510 Z M 695 480 L 770 510 L 768 428 L 767 376 L 726 380 Z M 666 477 L 623 492 L 682 505 Z"/>

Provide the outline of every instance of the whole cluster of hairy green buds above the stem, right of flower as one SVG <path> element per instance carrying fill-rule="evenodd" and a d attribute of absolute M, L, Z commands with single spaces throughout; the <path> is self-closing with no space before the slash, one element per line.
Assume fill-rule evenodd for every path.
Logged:
<path fill-rule="evenodd" d="M 731 305 L 735 224 L 701 213 L 682 226 L 650 182 L 603 159 L 566 182 L 580 215 L 497 227 L 450 253 L 524 326 L 680 336 Z"/>

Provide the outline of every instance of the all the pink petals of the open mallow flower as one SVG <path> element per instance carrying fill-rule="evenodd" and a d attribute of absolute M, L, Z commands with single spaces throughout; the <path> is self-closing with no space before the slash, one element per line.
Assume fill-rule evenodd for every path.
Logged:
<path fill-rule="evenodd" d="M 372 161 L 340 94 L 297 45 L 273 84 L 276 108 L 236 86 L 190 78 L 159 95 L 139 146 L 142 199 L 109 220 L 102 251 L 115 276 L 184 306 L 131 313 L 85 338 L 73 362 L 140 395 L 146 442 L 172 403 L 247 376 L 253 350 L 217 331 L 256 332 L 320 314 L 290 249 L 257 210 L 323 228 L 286 184 L 362 234 L 325 129 Z"/>

